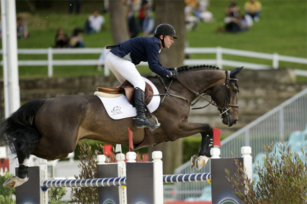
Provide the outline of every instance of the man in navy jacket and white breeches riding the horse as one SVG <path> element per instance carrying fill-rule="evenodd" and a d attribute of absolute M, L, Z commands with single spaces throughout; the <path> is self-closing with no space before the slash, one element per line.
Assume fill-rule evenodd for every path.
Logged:
<path fill-rule="evenodd" d="M 145 82 L 138 72 L 136 65 L 141 61 L 147 62 L 149 69 L 162 77 L 178 78 L 176 68 L 165 68 L 159 61 L 158 54 L 162 48 L 167 48 L 174 43 L 175 30 L 170 24 L 160 24 L 153 37 L 136 37 L 119 43 L 112 48 L 106 56 L 106 66 L 114 73 L 116 79 L 122 84 L 125 80 L 134 88 L 134 103 L 137 109 L 135 125 L 138 128 L 154 127 L 157 123 L 151 122 L 145 115 Z"/>

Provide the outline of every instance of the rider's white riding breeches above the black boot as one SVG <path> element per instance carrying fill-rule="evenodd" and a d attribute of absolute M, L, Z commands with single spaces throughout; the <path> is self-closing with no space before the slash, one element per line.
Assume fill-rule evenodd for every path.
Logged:
<path fill-rule="evenodd" d="M 109 52 L 105 59 L 105 64 L 111 70 L 116 79 L 122 84 L 125 80 L 130 82 L 135 88 L 139 87 L 145 91 L 145 82 L 141 74 L 136 68 L 136 65 L 126 59 L 117 57 Z"/>

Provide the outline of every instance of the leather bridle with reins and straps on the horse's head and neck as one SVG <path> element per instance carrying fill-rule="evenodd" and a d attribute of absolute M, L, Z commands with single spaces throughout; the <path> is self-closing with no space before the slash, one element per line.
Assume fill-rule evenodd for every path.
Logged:
<path fill-rule="evenodd" d="M 234 79 L 234 78 L 230 78 L 230 73 L 231 73 L 231 71 L 225 70 L 225 73 L 226 73 L 226 81 L 225 81 L 225 83 L 223 83 L 222 86 L 221 86 L 220 88 L 216 89 L 212 94 L 204 93 L 204 94 L 201 95 L 201 94 L 199 94 L 199 92 L 194 91 L 193 89 L 191 89 L 190 87 L 188 87 L 188 86 L 185 85 L 183 82 L 181 82 L 180 80 L 177 79 L 177 81 L 178 81 L 183 87 L 185 87 L 186 89 L 188 89 L 189 91 L 191 91 L 192 93 L 194 93 L 196 97 L 200 97 L 200 98 L 198 98 L 194 103 L 191 103 L 191 102 L 190 102 L 187 98 L 185 98 L 185 97 L 182 97 L 182 96 L 178 96 L 178 95 L 174 95 L 174 94 L 169 93 L 168 90 L 169 90 L 170 85 L 169 85 L 168 88 L 167 88 L 167 87 L 165 86 L 165 83 L 164 83 L 163 79 L 162 79 L 160 76 L 159 76 L 159 79 L 160 79 L 162 85 L 164 86 L 166 92 L 165 92 L 165 94 L 157 94 L 157 95 L 164 96 L 164 98 L 165 98 L 165 96 L 173 96 L 173 97 L 178 97 L 178 98 L 184 99 L 184 100 L 186 100 L 186 101 L 190 104 L 191 107 L 194 106 L 201 98 L 203 98 L 204 100 L 208 101 L 209 104 L 207 104 L 206 106 L 203 106 L 203 107 L 199 107 L 199 108 L 191 108 L 191 110 L 203 109 L 203 108 L 206 108 L 207 106 L 209 106 L 209 105 L 211 104 L 211 105 L 217 107 L 217 110 L 221 112 L 220 116 L 222 116 L 222 118 L 225 118 L 225 117 L 228 117 L 228 116 L 234 114 L 234 113 L 237 112 L 238 109 L 239 109 L 239 105 L 228 104 L 228 101 L 230 100 L 230 83 L 233 82 L 233 83 L 235 83 L 235 85 L 237 86 L 237 81 L 238 81 L 238 80 L 237 80 L 237 79 Z M 170 84 L 171 84 L 171 83 L 172 83 L 172 81 L 170 82 Z M 215 102 L 215 100 L 214 100 L 214 98 L 213 98 L 213 94 L 215 94 L 217 91 L 221 90 L 223 87 L 226 88 L 226 91 L 225 91 L 225 102 L 224 102 L 224 107 L 222 108 L 222 107 L 220 107 L 220 106 L 218 106 L 218 105 L 216 104 L 216 102 Z M 208 100 L 207 98 L 205 98 L 205 97 L 204 97 L 205 95 L 209 95 L 209 96 L 211 97 L 211 101 Z M 161 105 L 163 105 L 164 98 L 163 98 L 162 101 L 161 101 Z M 227 111 L 228 111 L 229 109 L 231 109 L 231 108 L 236 108 L 236 110 L 228 114 Z"/>

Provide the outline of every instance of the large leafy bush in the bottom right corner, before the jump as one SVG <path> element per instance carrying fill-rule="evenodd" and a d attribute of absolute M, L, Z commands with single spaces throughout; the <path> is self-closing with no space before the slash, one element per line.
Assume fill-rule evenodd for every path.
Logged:
<path fill-rule="evenodd" d="M 259 181 L 248 179 L 242 164 L 236 162 L 237 173 L 228 181 L 232 183 L 235 194 L 243 203 L 306 203 L 307 202 L 307 153 L 301 149 L 303 161 L 298 152 L 290 150 L 283 139 L 278 148 L 264 145 L 265 157 L 262 166 L 257 162 L 255 171 Z"/>

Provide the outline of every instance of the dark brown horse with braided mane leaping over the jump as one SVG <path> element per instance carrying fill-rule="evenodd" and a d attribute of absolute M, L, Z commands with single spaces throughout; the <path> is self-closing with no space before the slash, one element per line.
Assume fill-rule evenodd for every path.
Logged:
<path fill-rule="evenodd" d="M 209 104 L 220 111 L 222 122 L 231 127 L 238 122 L 236 75 L 243 67 L 227 71 L 215 66 L 184 66 L 178 71 L 178 80 L 147 77 L 163 97 L 154 112 L 161 126 L 152 130 L 154 144 L 175 141 L 200 133 L 201 147 L 198 155 L 191 158 L 191 167 L 199 170 L 210 158 L 213 129 L 210 124 L 188 122 L 192 101 L 196 97 L 211 97 Z M 168 87 L 168 88 L 167 88 Z M 208 97 L 207 97 L 208 98 Z M 26 159 L 30 155 L 55 160 L 65 158 L 73 152 L 81 139 L 129 144 L 127 127 L 134 133 L 133 143 L 141 144 L 145 129 L 137 129 L 133 118 L 113 120 L 100 99 L 95 95 L 67 95 L 47 99 L 34 99 L 2 122 L 1 137 L 18 159 L 17 175 L 4 184 L 15 188 L 28 181 Z"/>

